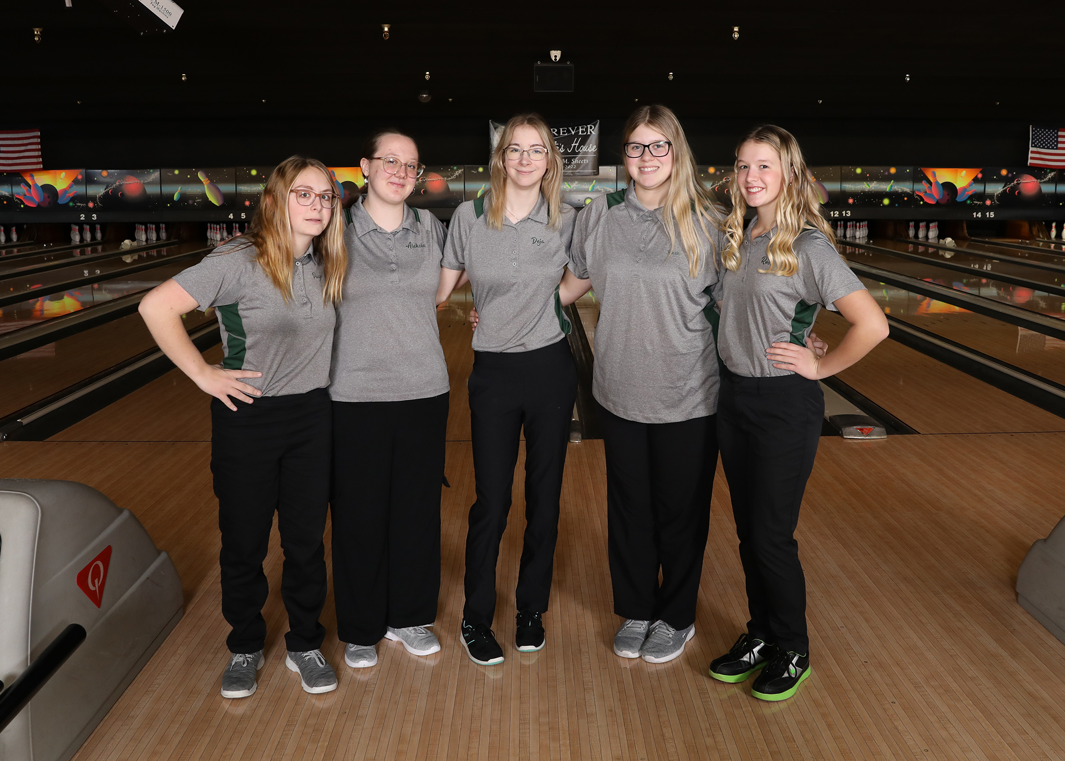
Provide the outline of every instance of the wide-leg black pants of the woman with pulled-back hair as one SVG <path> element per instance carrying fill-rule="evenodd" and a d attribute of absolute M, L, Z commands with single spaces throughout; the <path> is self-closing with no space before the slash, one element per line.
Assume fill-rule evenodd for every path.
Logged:
<path fill-rule="evenodd" d="M 333 402 L 337 635 L 374 645 L 426 626 L 440 598 L 440 489 L 448 394 Z"/>

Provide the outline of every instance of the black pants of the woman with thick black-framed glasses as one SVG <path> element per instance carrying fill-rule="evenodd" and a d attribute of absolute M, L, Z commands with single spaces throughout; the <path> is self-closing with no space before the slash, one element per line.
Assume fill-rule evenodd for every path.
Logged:
<path fill-rule="evenodd" d="M 695 621 L 710 527 L 718 465 L 714 416 L 639 423 L 597 407 L 613 612 L 686 629 Z"/>

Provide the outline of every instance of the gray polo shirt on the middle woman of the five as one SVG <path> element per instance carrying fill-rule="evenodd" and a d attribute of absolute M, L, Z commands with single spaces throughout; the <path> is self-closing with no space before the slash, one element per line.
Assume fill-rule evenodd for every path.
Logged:
<path fill-rule="evenodd" d="M 570 263 L 576 211 L 563 204 L 558 229 L 547 227 L 547 201 L 503 229 L 478 217 L 474 203 L 459 205 L 447 228 L 444 266 L 465 270 L 477 308 L 475 352 L 530 352 L 564 338 L 555 313 L 555 289 Z"/>

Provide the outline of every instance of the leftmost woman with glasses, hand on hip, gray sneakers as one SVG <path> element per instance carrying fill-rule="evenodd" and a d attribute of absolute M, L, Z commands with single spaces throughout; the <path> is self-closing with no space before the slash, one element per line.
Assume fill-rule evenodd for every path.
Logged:
<path fill-rule="evenodd" d="M 308 693 L 337 689 L 322 654 L 334 305 L 347 269 L 337 192 L 321 162 L 294 156 L 271 175 L 248 232 L 141 302 L 160 349 L 211 400 L 211 472 L 222 530 L 222 613 L 231 631 L 222 696 L 247 697 L 265 661 L 262 563 L 277 513 L 289 614 L 285 665 Z M 214 308 L 222 365 L 181 325 Z"/>

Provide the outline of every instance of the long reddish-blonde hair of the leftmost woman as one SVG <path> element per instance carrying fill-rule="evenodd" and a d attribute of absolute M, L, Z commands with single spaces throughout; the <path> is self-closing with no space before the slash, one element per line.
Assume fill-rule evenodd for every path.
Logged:
<path fill-rule="evenodd" d="M 289 191 L 296 184 L 299 173 L 307 168 L 322 172 L 326 183 L 337 192 L 329 169 L 321 161 L 292 156 L 277 165 L 266 180 L 259 208 L 256 209 L 248 231 L 242 238 L 256 247 L 256 261 L 263 269 L 275 288 L 281 291 L 285 304 L 292 298 L 292 262 L 304 255 L 292 250 L 292 230 L 289 223 Z M 347 272 L 347 248 L 344 246 L 344 213 L 338 203 L 331 209 L 329 224 L 314 238 L 314 250 L 322 257 L 325 281 L 322 288 L 324 304 L 340 304 Z M 239 249 L 237 249 L 239 250 Z"/>

